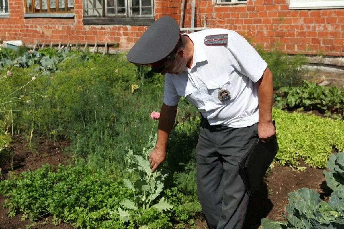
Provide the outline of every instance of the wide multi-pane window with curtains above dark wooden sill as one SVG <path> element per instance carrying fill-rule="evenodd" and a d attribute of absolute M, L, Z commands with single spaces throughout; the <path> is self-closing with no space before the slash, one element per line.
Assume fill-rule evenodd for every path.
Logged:
<path fill-rule="evenodd" d="M 153 17 L 153 0 L 83 0 L 84 17 Z"/>

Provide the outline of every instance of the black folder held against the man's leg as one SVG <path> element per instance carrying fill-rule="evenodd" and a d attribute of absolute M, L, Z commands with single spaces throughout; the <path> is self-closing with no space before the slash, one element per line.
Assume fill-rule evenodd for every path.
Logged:
<path fill-rule="evenodd" d="M 273 124 L 275 125 L 275 121 Z M 277 151 L 278 143 L 275 134 L 266 143 L 257 139 L 248 153 L 239 161 L 239 173 L 245 183 L 248 195 L 252 196 L 258 189 Z"/>

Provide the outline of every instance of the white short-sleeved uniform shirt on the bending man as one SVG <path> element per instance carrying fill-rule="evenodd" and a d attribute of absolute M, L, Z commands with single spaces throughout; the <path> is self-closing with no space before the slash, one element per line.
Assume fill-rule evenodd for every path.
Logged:
<path fill-rule="evenodd" d="M 227 45 L 205 45 L 208 35 L 228 34 Z M 258 122 L 257 82 L 267 63 L 238 33 L 207 29 L 186 34 L 194 45 L 193 64 L 180 74 L 165 74 L 164 103 L 178 104 L 184 96 L 211 125 L 247 127 Z M 231 99 L 222 102 L 218 91 Z"/>

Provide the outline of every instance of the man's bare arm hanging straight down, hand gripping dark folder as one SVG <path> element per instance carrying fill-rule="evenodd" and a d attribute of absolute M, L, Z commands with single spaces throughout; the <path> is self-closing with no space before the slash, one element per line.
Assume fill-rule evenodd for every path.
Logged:
<path fill-rule="evenodd" d="M 272 103 L 273 103 L 273 85 L 272 73 L 266 68 L 263 76 L 257 81 L 259 122 L 258 137 L 265 142 L 275 133 L 275 127 L 272 124 Z"/>

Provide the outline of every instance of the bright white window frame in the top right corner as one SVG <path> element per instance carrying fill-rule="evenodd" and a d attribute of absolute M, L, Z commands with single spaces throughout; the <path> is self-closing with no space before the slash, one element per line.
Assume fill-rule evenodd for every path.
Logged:
<path fill-rule="evenodd" d="M 344 8 L 344 0 L 290 0 L 289 9 Z"/>

